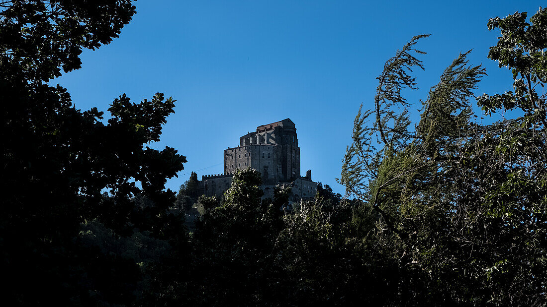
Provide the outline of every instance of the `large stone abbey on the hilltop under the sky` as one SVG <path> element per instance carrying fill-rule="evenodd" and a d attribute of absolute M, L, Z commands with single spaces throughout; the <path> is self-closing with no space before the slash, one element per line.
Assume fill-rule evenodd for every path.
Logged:
<path fill-rule="evenodd" d="M 254 168 L 262 174 L 264 197 L 274 197 L 277 184 L 292 186 L 290 201 L 311 198 L 317 183 L 311 180 L 311 170 L 300 176 L 300 147 L 296 127 L 289 118 L 257 127 L 257 131 L 240 137 L 240 145 L 224 149 L 224 174 L 202 176 L 200 195 L 222 196 L 230 188 L 235 170 Z"/>

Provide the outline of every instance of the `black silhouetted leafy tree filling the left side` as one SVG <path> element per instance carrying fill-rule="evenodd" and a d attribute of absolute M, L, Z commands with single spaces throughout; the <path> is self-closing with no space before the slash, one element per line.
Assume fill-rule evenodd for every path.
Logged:
<path fill-rule="evenodd" d="M 129 0 L 2 2 L 7 193 L 0 259 L 10 280 L 7 304 L 134 303 L 142 279 L 138 259 L 105 252 L 79 232 L 96 221 L 121 237 L 136 230 L 155 239 L 176 233 L 179 221 L 167 210 L 174 193 L 164 185 L 183 169 L 185 157 L 174 148 L 146 146 L 159 140 L 175 100 L 156 93 L 135 104 L 120 95 L 104 123 L 103 112 L 75 109 L 65 88 L 44 83 L 61 69 L 78 69 L 82 49 L 108 44 L 133 14 Z M 148 205 L 136 206 L 135 195 Z"/>

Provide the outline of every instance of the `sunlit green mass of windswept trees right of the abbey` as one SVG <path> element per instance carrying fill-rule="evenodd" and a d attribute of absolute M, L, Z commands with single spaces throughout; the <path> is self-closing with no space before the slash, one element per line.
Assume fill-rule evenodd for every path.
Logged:
<path fill-rule="evenodd" d="M 378 245 L 398 263 L 398 304 L 546 303 L 545 95 L 535 92 L 545 82 L 546 13 L 529 24 L 525 13 L 488 22 L 502 30 L 489 57 L 513 69 L 515 93 L 478 104 L 487 114 L 519 107 L 523 116 L 471 121 L 469 98 L 485 73 L 463 53 L 410 130 L 400 89 L 414 86 L 406 71 L 421 67 L 408 53 L 416 38 L 386 63 L 375 109 L 359 110 L 340 182 L 381 216 Z"/>

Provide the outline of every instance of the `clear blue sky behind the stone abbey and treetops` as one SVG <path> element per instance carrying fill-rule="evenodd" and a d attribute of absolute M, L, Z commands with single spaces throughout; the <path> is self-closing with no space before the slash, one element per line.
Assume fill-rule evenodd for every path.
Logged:
<path fill-rule="evenodd" d="M 425 71 L 408 92 L 419 107 L 429 87 L 458 56 L 488 77 L 476 95 L 503 93 L 511 74 L 487 59 L 499 31 L 490 17 L 536 13 L 539 1 L 147 1 L 120 38 L 84 51 L 82 69 L 52 83 L 68 88 L 78 109 L 106 111 L 126 93 L 138 102 L 156 92 L 177 99 L 162 141 L 188 162 L 167 188 L 196 171 L 223 172 L 223 150 L 258 125 L 290 118 L 301 148 L 301 173 L 337 184 L 358 107 L 372 107 L 375 77 L 389 57 L 417 34 Z M 545 5 L 545 4 L 544 4 Z M 416 118 L 415 113 L 414 118 Z M 480 120 L 480 118 L 479 118 Z M 203 169 L 205 168 L 205 169 Z"/>

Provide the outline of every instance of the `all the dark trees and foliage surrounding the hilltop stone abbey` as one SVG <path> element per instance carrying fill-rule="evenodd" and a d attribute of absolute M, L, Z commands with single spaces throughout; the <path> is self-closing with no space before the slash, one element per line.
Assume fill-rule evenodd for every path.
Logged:
<path fill-rule="evenodd" d="M 476 101 L 519 117 L 474 121 L 486 74 L 463 53 L 411 128 L 401 90 L 423 68 L 417 36 L 386 62 L 374 109 L 358 112 L 347 198 L 320 185 L 285 212 L 290 188 L 263 200 L 251 169 L 222 199 L 197 195 L 195 173 L 165 190 L 185 157 L 147 145 L 175 100 L 123 94 L 105 121 L 48 85 L 118 36 L 131 0 L 1 7 L 5 305 L 547 304 L 547 9 L 488 22 L 501 30 L 488 58 L 514 88 Z"/>

